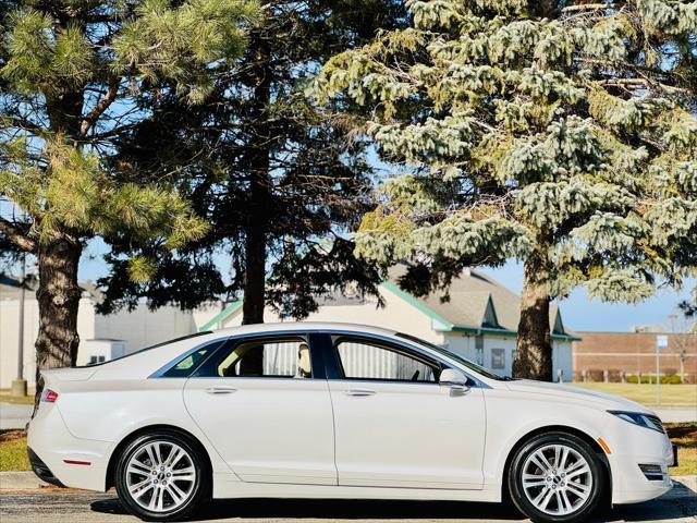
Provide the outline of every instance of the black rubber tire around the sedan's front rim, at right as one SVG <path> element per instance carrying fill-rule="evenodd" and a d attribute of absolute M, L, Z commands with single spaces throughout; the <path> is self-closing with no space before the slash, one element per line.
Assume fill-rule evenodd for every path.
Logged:
<path fill-rule="evenodd" d="M 524 465 L 527 462 L 528 458 L 530 458 L 538 450 L 547 448 L 551 445 L 561 445 L 575 450 L 585 459 L 590 470 L 589 475 L 592 482 L 590 486 L 590 494 L 585 501 L 580 501 L 579 497 L 572 497 L 572 499 L 574 499 L 574 502 L 578 503 L 578 507 L 574 507 L 571 513 L 553 514 L 539 510 L 533 503 L 533 501 L 528 499 L 528 496 L 526 495 L 523 487 Z M 560 479 L 562 482 L 564 481 L 558 475 L 555 476 L 557 478 L 552 479 L 550 482 L 550 485 L 555 483 L 557 479 Z M 585 477 L 588 478 L 588 475 L 585 475 Z M 511 499 L 513 500 L 517 509 L 535 523 L 575 523 L 588 520 L 588 518 L 590 518 L 590 515 L 601 507 L 607 488 L 607 478 L 604 464 L 595 452 L 595 450 L 586 441 L 568 433 L 547 433 L 534 436 L 515 452 L 515 454 L 513 455 L 513 460 L 511 461 L 511 466 L 509 469 L 508 486 Z M 536 495 L 538 492 L 541 492 L 545 488 L 547 488 L 547 492 L 550 492 L 551 487 L 548 488 L 547 485 L 539 487 L 538 490 L 530 489 L 530 492 L 531 495 Z M 557 489 L 558 485 L 555 485 L 554 488 Z M 557 499 L 554 498 L 554 496 L 555 495 L 553 495 L 552 497 L 553 501 L 550 501 L 550 511 L 554 510 L 555 508 L 557 510 L 559 510 L 559 507 L 555 504 Z"/>

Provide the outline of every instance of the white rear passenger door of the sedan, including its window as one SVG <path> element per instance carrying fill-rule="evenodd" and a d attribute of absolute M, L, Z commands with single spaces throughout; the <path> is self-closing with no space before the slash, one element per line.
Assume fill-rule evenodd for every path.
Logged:
<path fill-rule="evenodd" d="M 247 337 L 184 387 L 186 409 L 241 479 L 337 485 L 332 408 L 304 335 Z"/>

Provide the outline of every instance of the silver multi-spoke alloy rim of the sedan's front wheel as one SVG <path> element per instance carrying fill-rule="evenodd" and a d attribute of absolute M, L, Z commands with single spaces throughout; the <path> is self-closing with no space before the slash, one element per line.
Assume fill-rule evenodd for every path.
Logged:
<path fill-rule="evenodd" d="M 547 445 L 527 457 L 522 476 L 525 496 L 539 511 L 567 515 L 579 510 L 592 490 L 586 459 L 565 445 Z"/>

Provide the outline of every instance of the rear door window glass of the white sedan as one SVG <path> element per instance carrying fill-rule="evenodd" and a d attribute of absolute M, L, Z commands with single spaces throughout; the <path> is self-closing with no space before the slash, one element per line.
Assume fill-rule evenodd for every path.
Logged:
<path fill-rule="evenodd" d="M 216 376 L 311 378 L 309 345 L 303 339 L 241 341 L 220 358 Z"/>

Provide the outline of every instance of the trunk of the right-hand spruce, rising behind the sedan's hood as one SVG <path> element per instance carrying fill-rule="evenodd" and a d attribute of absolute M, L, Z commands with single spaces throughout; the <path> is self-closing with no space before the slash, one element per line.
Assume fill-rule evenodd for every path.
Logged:
<path fill-rule="evenodd" d="M 552 380 L 552 344 L 549 328 L 549 291 L 543 253 L 530 254 L 525 262 L 521 320 L 513 361 L 516 378 Z"/>

